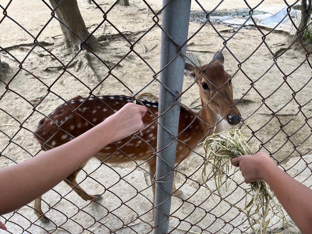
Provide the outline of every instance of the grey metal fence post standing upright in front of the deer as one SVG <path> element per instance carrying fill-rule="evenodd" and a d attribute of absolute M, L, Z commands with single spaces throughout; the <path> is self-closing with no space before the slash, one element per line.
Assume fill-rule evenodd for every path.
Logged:
<path fill-rule="evenodd" d="M 168 4 L 168 5 L 167 5 Z M 163 0 L 154 234 L 168 233 L 191 0 Z M 171 37 L 171 38 L 170 38 Z"/>

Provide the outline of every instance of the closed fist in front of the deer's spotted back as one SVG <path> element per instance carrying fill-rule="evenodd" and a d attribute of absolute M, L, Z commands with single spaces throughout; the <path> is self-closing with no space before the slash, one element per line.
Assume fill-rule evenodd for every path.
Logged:
<path fill-rule="evenodd" d="M 114 129 L 112 141 L 118 141 L 144 129 L 142 118 L 146 111 L 145 106 L 127 103 L 114 115 L 108 117 L 105 121 L 109 121 L 110 127 Z"/>

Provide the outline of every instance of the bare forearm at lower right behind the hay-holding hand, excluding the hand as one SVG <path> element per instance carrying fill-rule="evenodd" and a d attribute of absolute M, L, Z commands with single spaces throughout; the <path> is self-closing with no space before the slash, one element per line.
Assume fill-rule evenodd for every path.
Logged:
<path fill-rule="evenodd" d="M 263 176 L 303 234 L 312 230 L 312 190 L 275 165 Z"/>

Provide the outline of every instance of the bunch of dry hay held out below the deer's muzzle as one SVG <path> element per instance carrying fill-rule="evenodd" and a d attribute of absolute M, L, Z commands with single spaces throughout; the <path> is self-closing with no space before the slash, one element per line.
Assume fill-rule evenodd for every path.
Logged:
<path fill-rule="evenodd" d="M 206 188 L 212 193 L 206 182 L 213 175 L 220 198 L 232 207 L 246 213 L 249 225 L 256 234 L 266 233 L 274 216 L 280 218 L 283 226 L 289 227 L 280 203 L 274 198 L 273 191 L 265 181 L 250 184 L 250 190 L 246 191 L 244 208 L 238 207 L 223 198 L 221 194 L 222 185 L 225 184 L 227 190 L 236 171 L 235 168 L 233 175 L 228 175 L 230 168 L 232 168 L 231 159 L 245 154 L 252 154 L 240 129 L 212 134 L 203 142 L 203 149 L 205 151 L 205 163 L 202 180 Z M 212 164 L 212 170 L 209 170 L 209 172 L 206 171 L 208 164 Z M 230 179 L 229 183 L 227 182 L 228 179 Z M 249 195 L 251 195 L 251 200 L 247 201 Z"/>

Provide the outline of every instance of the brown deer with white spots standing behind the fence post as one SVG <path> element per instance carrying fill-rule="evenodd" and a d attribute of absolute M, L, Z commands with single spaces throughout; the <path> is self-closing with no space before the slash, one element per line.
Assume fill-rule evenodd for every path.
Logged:
<path fill-rule="evenodd" d="M 216 124 L 219 116 L 222 116 L 223 120 L 217 124 L 217 132 L 224 130 L 225 124 L 222 122 L 235 125 L 241 121 L 241 115 L 233 101 L 231 76 L 224 70 L 223 63 L 224 57 L 219 51 L 214 55 L 211 63 L 201 66 L 199 69 L 185 63 L 184 74 L 192 78 L 199 86 L 202 110 L 195 114 L 181 106 L 176 164 L 187 158 L 192 153 L 192 149 L 212 133 L 212 126 Z M 41 119 L 35 137 L 43 150 L 52 149 L 88 131 L 92 126 L 104 121 L 131 101 L 133 100 L 130 97 L 122 95 L 88 98 L 77 96 L 57 107 L 48 117 Z M 158 103 L 148 100 L 141 100 L 141 102 L 148 109 L 143 117 L 146 128 L 140 134 L 105 146 L 96 156 L 105 163 L 145 161 L 149 165 L 154 202 L 155 185 L 153 179 L 156 173 L 156 155 L 154 153 L 157 148 L 157 123 L 155 119 L 158 117 Z M 82 199 L 95 200 L 100 195 L 86 193 L 76 182 L 76 176 L 85 164 L 77 168 L 64 181 Z M 179 194 L 175 183 L 173 183 L 173 192 L 176 195 Z M 48 220 L 41 210 L 41 198 L 35 200 L 34 208 L 41 221 Z"/>

